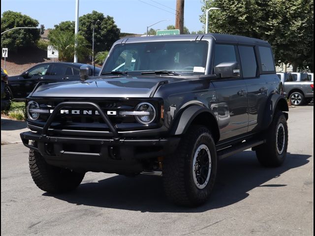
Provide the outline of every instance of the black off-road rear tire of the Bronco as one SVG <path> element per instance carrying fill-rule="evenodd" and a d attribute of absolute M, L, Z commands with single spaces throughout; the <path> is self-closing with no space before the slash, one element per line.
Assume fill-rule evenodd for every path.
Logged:
<path fill-rule="evenodd" d="M 286 157 L 288 143 L 288 129 L 283 112 L 276 111 L 272 123 L 264 134 L 264 138 L 266 143 L 255 149 L 258 161 L 265 167 L 281 166 Z M 284 141 L 283 145 L 281 144 L 282 141 Z"/>

